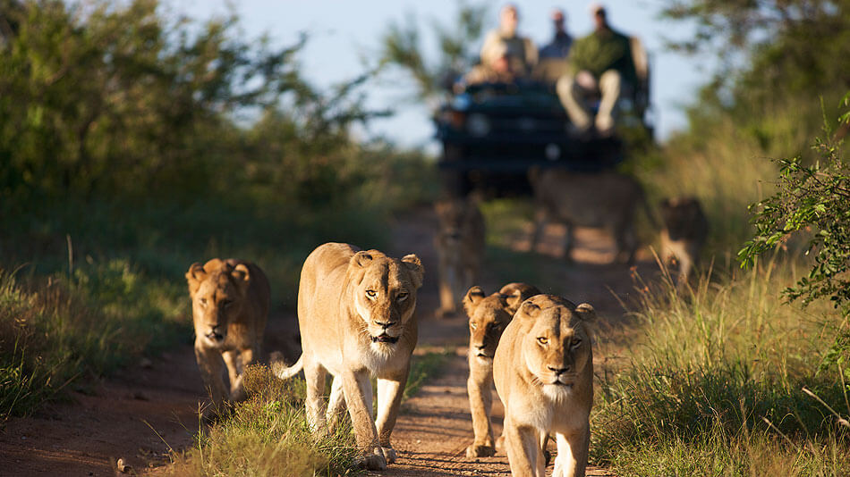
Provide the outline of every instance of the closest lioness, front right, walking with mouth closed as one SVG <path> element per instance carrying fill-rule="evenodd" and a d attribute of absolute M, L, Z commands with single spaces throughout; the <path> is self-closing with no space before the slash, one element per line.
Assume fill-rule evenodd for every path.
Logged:
<path fill-rule="evenodd" d="M 507 458 L 514 476 L 544 475 L 541 442 L 557 442 L 554 476 L 583 476 L 590 445 L 593 354 L 585 323 L 596 313 L 561 297 L 520 305 L 496 349 L 493 375 L 505 406 Z"/>

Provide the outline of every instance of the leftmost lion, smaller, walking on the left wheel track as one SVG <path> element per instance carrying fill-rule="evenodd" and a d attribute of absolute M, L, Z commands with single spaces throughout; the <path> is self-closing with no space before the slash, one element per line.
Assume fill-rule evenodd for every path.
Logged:
<path fill-rule="evenodd" d="M 242 400 L 242 372 L 259 357 L 268 320 L 270 290 L 259 266 L 213 258 L 186 272 L 195 325 L 195 357 L 214 409 L 225 399 Z M 230 391 L 222 376 L 222 360 Z"/>

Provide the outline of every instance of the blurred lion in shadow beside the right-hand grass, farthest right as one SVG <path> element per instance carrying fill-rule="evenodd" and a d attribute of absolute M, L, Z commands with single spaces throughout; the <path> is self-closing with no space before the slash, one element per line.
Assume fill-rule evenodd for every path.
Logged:
<path fill-rule="evenodd" d="M 700 259 L 700 250 L 709 235 L 709 221 L 695 197 L 672 197 L 661 201 L 661 263 L 676 259 L 679 285 L 688 280 Z"/>

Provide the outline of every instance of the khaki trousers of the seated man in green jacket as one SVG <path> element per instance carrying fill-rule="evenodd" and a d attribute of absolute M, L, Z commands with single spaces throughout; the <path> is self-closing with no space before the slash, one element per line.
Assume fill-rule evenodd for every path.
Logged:
<path fill-rule="evenodd" d="M 581 71 L 580 71 L 581 72 Z M 595 81 L 594 81 L 595 83 Z M 599 84 L 585 85 L 593 88 L 585 88 L 575 81 L 575 77 L 564 75 L 557 80 L 557 96 L 564 105 L 566 113 L 570 116 L 574 126 L 578 130 L 588 130 L 591 127 L 591 118 L 584 106 L 584 99 L 595 89 L 602 93 L 599 102 L 599 113 L 596 115 L 596 127 L 600 131 L 608 131 L 614 126 L 614 118 L 611 112 L 614 110 L 616 100 L 620 97 L 620 87 L 623 77 L 619 71 L 608 70 L 599 77 Z"/>

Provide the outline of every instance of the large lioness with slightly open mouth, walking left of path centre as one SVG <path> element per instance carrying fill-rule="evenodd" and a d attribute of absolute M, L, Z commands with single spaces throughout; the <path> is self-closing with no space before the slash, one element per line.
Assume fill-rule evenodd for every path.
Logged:
<path fill-rule="evenodd" d="M 332 432 L 348 407 L 359 465 L 383 470 L 395 463 L 395 426 L 410 358 L 416 346 L 416 292 L 425 270 L 416 255 L 401 260 L 378 250 L 327 243 L 310 253 L 298 289 L 302 356 L 281 379 L 302 369 L 307 419 L 314 432 Z M 325 377 L 333 377 L 327 413 Z M 372 385 L 378 378 L 378 419 L 372 421 Z"/>

